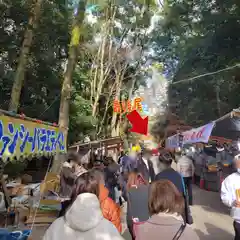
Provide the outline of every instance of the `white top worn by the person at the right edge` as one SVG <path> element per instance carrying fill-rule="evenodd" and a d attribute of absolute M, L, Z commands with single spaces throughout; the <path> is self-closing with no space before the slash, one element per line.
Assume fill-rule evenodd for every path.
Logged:
<path fill-rule="evenodd" d="M 237 189 L 240 189 L 240 174 L 238 172 L 235 172 L 229 175 L 223 181 L 221 187 L 221 199 L 226 206 L 231 207 L 232 218 L 237 222 L 240 222 L 240 208 L 233 206 L 234 201 L 237 200 Z"/>

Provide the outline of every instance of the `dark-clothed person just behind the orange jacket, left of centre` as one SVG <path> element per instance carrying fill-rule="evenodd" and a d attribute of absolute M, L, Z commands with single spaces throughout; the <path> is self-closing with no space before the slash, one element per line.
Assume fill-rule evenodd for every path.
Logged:
<path fill-rule="evenodd" d="M 119 188 L 118 177 L 120 174 L 120 166 L 112 157 L 106 158 L 105 166 L 105 186 L 109 190 L 109 197 L 116 202 L 116 188 Z"/>

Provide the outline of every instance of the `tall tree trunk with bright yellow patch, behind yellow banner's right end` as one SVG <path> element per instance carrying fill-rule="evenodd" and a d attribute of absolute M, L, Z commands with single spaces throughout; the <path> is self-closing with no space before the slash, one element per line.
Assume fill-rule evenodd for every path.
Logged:
<path fill-rule="evenodd" d="M 62 84 L 62 92 L 61 92 L 61 101 L 59 108 L 59 128 L 63 130 L 65 139 L 67 140 L 68 135 L 68 125 L 69 125 L 69 106 L 72 92 L 72 74 L 74 72 L 77 57 L 78 57 L 78 49 L 80 43 L 80 33 L 81 27 L 83 24 L 84 16 L 85 16 L 85 8 L 86 2 L 79 0 L 78 3 L 78 12 L 76 17 L 73 20 L 72 27 L 72 36 L 71 43 L 69 48 L 69 55 L 67 61 L 66 71 L 64 73 L 63 84 Z M 56 156 L 52 166 L 52 172 L 59 172 L 62 161 L 60 161 L 59 156 Z"/>

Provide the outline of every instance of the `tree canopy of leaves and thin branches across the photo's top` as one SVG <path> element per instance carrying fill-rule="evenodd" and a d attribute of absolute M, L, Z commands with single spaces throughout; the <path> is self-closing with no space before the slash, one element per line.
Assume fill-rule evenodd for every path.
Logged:
<path fill-rule="evenodd" d="M 204 124 L 239 106 L 239 1 L 111 2 L 86 2 L 72 74 L 69 143 L 86 135 L 96 139 L 125 134 L 126 113 L 115 113 L 113 101 L 131 99 L 140 85 L 146 86 L 149 65 L 156 63 L 169 81 L 167 109 L 187 124 Z M 58 122 L 76 3 L 42 1 L 18 109 L 29 117 Z M 0 4 L 3 109 L 9 106 L 34 4 Z M 166 123 L 159 126 L 164 129 Z"/>

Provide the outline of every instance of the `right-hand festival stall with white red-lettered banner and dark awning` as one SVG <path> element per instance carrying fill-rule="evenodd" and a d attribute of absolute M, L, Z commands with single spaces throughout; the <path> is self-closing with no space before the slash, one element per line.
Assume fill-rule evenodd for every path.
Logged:
<path fill-rule="evenodd" d="M 239 116 L 240 111 L 236 109 L 209 124 L 167 139 L 167 148 L 174 149 L 200 143 L 201 151 L 193 156 L 200 187 L 219 191 L 222 180 L 231 173 L 234 151 L 240 150 L 234 147 L 240 137 Z"/>

